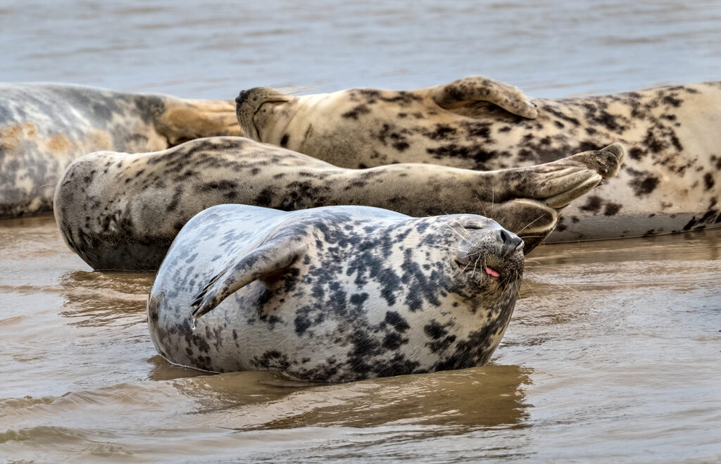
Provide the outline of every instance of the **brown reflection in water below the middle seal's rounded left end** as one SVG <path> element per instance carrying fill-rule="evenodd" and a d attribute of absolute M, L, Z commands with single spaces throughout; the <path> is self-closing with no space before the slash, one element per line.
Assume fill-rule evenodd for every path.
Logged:
<path fill-rule="evenodd" d="M 76 318 L 77 326 L 143 323 L 153 278 L 136 272 L 67 272 L 58 282 L 66 300 L 61 314 Z"/>

